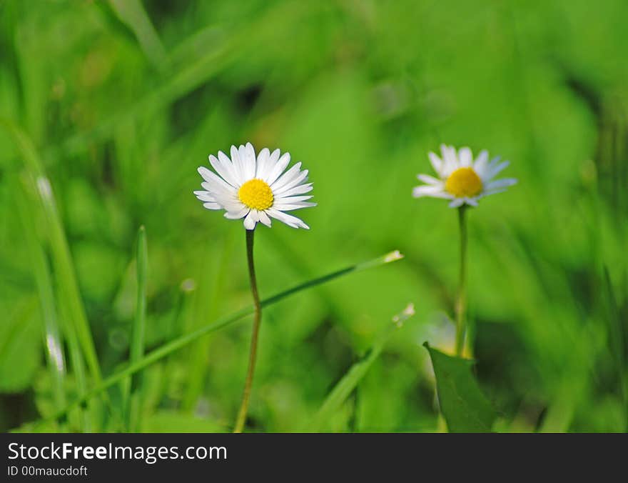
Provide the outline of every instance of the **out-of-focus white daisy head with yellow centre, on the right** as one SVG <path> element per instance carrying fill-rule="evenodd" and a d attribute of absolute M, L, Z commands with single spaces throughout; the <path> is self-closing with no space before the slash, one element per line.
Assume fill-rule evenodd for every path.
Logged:
<path fill-rule="evenodd" d="M 506 191 L 508 186 L 517 183 L 514 178 L 495 179 L 509 161 L 500 162 L 500 156 L 488 160 L 488 151 L 480 151 L 474 160 L 471 149 L 465 147 L 456 151 L 454 146 L 440 145 L 442 158 L 429 153 L 430 161 L 438 177 L 419 174 L 422 186 L 412 190 L 412 196 L 432 196 L 452 200 L 451 208 L 464 204 L 477 206 L 477 200 L 490 194 Z"/>

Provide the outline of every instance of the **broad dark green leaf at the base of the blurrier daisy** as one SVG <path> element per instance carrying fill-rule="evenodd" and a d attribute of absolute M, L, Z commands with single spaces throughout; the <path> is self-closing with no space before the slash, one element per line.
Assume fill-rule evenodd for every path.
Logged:
<path fill-rule="evenodd" d="M 430 352 L 438 402 L 450 432 L 490 432 L 497 414 L 471 372 L 474 362 L 423 345 Z"/>

